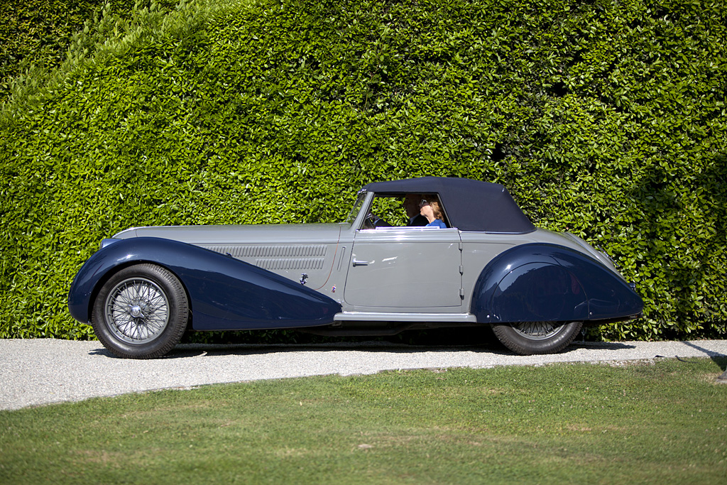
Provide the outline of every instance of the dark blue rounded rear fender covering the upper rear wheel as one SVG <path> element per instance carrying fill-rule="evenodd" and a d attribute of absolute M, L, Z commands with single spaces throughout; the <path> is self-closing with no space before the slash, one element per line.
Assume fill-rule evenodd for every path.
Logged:
<path fill-rule="evenodd" d="M 482 270 L 471 311 L 480 323 L 619 321 L 643 302 L 618 274 L 593 257 L 557 244 L 523 244 Z"/>

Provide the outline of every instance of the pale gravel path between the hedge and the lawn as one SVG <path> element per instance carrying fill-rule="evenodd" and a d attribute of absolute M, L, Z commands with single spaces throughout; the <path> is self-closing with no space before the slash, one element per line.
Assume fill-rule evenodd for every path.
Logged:
<path fill-rule="evenodd" d="M 580 342 L 553 356 L 515 356 L 470 346 L 386 342 L 336 345 L 179 345 L 165 358 L 115 358 L 100 342 L 0 340 L 0 409 L 81 401 L 162 388 L 391 369 L 632 361 L 727 356 L 727 340 Z"/>

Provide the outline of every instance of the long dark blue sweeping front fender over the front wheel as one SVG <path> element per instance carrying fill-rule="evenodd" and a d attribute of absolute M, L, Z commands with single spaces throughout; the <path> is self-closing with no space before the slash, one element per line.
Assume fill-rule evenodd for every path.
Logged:
<path fill-rule="evenodd" d="M 123 239 L 100 249 L 71 285 L 68 309 L 90 320 L 92 298 L 107 275 L 137 262 L 153 262 L 182 281 L 196 330 L 243 330 L 326 325 L 341 306 L 283 276 L 198 246 L 158 238 Z"/>

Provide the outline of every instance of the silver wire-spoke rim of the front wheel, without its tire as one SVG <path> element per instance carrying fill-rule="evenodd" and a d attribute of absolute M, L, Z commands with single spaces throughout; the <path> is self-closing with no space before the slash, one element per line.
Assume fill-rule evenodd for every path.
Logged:
<path fill-rule="evenodd" d="M 146 278 L 121 281 L 109 292 L 105 308 L 111 331 L 131 344 L 156 339 L 169 323 L 169 300 Z"/>

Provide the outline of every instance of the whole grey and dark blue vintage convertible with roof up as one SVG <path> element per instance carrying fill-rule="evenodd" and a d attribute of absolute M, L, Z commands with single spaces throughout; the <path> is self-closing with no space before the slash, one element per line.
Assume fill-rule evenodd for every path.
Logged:
<path fill-rule="evenodd" d="M 407 225 L 406 196 L 438 199 L 446 228 Z M 423 177 L 369 183 L 342 223 L 121 231 L 79 270 L 68 308 L 117 356 L 154 358 L 188 326 L 490 325 L 516 353 L 554 353 L 584 324 L 637 318 L 643 302 L 606 254 L 535 228 L 502 185 Z"/>

